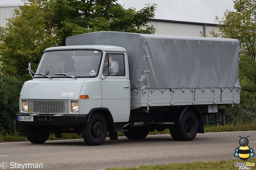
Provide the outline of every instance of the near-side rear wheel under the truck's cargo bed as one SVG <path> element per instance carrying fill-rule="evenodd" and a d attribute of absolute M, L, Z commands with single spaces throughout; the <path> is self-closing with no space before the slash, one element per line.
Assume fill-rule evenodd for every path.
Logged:
<path fill-rule="evenodd" d="M 196 115 L 191 111 L 186 111 L 182 116 L 180 124 L 177 125 L 177 133 L 180 140 L 189 141 L 196 137 L 198 121 Z"/>

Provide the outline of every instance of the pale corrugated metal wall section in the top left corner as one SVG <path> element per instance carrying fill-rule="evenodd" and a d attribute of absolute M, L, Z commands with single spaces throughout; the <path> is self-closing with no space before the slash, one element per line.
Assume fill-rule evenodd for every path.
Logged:
<path fill-rule="evenodd" d="M 20 9 L 21 4 L 0 5 L 0 26 L 5 27 L 8 18 L 13 16 L 14 9 Z"/>

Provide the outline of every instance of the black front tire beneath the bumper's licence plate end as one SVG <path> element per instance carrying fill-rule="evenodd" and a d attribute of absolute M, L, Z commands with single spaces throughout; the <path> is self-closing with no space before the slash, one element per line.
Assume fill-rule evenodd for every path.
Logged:
<path fill-rule="evenodd" d="M 50 133 L 42 127 L 25 125 L 25 135 L 28 140 L 34 144 L 44 143 L 50 136 Z"/>

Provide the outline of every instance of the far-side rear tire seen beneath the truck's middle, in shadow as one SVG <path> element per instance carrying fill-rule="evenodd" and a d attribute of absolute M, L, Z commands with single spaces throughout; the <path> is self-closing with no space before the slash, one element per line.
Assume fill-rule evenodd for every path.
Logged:
<path fill-rule="evenodd" d="M 145 127 L 129 127 L 124 135 L 129 139 L 144 139 L 148 136 L 149 130 Z"/>

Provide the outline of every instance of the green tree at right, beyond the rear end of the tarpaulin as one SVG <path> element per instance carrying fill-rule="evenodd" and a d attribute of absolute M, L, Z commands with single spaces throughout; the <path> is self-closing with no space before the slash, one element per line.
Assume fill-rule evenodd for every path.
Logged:
<path fill-rule="evenodd" d="M 234 0 L 234 10 L 226 10 L 224 18 L 217 22 L 224 25 L 220 27 L 222 37 L 235 38 L 240 41 L 242 55 L 256 59 L 256 1 Z"/>

